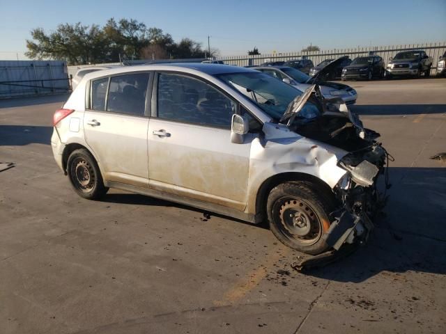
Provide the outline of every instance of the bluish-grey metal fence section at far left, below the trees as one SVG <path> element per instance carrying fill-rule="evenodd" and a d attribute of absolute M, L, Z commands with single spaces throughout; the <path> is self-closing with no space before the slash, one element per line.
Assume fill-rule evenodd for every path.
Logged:
<path fill-rule="evenodd" d="M 70 81 L 63 61 L 0 61 L 0 98 L 69 90 Z"/>

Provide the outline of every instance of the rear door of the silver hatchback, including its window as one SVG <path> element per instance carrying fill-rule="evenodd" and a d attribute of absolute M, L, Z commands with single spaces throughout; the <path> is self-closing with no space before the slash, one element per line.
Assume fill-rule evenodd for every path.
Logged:
<path fill-rule="evenodd" d="M 91 80 L 84 134 L 106 181 L 148 186 L 149 77 L 137 72 Z"/>

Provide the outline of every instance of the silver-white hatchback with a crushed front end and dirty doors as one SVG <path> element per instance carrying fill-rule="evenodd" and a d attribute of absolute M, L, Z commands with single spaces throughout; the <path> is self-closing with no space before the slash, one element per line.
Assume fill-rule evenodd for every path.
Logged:
<path fill-rule="evenodd" d="M 386 152 L 342 100 L 217 64 L 86 74 L 52 150 L 83 198 L 109 187 L 252 223 L 309 254 L 362 241 Z"/>

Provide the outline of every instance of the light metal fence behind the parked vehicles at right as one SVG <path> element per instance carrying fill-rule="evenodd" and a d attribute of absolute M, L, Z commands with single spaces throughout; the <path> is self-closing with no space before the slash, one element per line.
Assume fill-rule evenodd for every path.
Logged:
<path fill-rule="evenodd" d="M 394 57 L 400 51 L 408 51 L 413 49 L 423 49 L 428 56 L 433 58 L 432 70 L 436 69 L 438 58 L 446 51 L 446 42 L 432 42 L 423 44 L 407 44 L 407 45 L 387 45 L 384 47 L 357 47 L 355 49 L 332 49 L 314 52 L 291 52 L 283 54 L 259 54 L 256 56 L 226 56 L 218 58 L 219 61 L 229 65 L 248 66 L 261 65 L 268 61 L 289 61 L 291 59 L 308 58 L 314 65 L 321 63 L 328 58 L 339 58 L 341 56 L 350 56 L 356 58 L 358 56 L 367 56 L 374 54 L 384 59 L 385 63 L 390 57 Z"/>

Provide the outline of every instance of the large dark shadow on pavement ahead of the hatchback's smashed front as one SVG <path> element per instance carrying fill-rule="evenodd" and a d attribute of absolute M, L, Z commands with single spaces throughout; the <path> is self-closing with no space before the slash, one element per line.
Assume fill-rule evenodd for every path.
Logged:
<path fill-rule="evenodd" d="M 369 242 L 307 275 L 360 283 L 378 273 L 446 273 L 446 168 L 389 168 L 392 189 Z"/>

